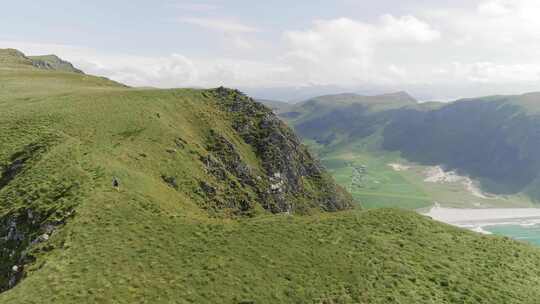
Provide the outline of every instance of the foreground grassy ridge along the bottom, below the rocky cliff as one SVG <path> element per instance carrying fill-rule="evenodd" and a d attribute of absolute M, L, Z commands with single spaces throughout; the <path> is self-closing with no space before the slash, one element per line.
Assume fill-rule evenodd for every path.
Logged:
<path fill-rule="evenodd" d="M 534 303 L 540 295 L 540 251 L 412 212 L 229 222 L 146 204 L 122 194 L 87 202 L 54 237 L 63 248 L 0 300 Z"/>

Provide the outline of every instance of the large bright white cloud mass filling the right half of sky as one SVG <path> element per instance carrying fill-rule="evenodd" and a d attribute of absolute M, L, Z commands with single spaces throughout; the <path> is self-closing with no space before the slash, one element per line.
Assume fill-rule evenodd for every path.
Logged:
<path fill-rule="evenodd" d="M 283 60 L 295 81 L 349 87 L 434 90 L 482 85 L 482 92 L 540 90 L 540 1 L 491 0 L 476 9 L 420 10 L 367 23 L 319 20 L 285 33 Z M 515 89 L 512 90 L 512 87 Z M 503 89 L 504 88 L 504 89 Z M 480 92 L 480 91 L 479 91 Z M 444 94 L 444 96 L 443 96 Z"/>

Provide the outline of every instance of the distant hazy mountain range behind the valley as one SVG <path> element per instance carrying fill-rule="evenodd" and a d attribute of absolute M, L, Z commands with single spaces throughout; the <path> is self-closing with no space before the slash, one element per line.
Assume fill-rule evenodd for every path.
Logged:
<path fill-rule="evenodd" d="M 486 191 L 540 199 L 540 93 L 449 103 L 418 103 L 403 92 L 341 94 L 278 113 L 327 151 L 369 139 L 373 153 L 397 151 L 478 179 Z"/>

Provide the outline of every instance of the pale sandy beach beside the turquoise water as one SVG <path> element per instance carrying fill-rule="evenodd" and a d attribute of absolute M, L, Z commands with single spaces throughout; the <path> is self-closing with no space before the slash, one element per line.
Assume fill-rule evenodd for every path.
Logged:
<path fill-rule="evenodd" d="M 457 209 L 434 206 L 423 215 L 450 225 L 489 233 L 483 228 L 499 225 L 532 226 L 540 224 L 540 208 Z"/>

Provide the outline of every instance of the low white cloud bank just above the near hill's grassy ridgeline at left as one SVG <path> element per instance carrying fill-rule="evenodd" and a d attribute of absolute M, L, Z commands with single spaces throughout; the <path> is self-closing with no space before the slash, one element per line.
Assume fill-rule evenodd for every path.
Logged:
<path fill-rule="evenodd" d="M 225 58 L 193 58 L 180 54 L 142 57 L 121 54 L 74 61 L 91 74 L 104 75 L 132 86 L 216 87 L 272 84 L 279 66 L 257 61 Z M 275 83 L 283 85 L 283 83 Z"/>

